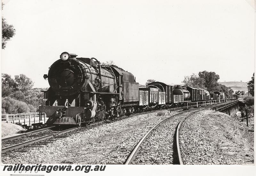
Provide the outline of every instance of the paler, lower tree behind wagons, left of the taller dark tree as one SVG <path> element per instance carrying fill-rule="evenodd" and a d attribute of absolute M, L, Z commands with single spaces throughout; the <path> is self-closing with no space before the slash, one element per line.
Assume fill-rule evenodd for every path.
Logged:
<path fill-rule="evenodd" d="M 191 87 L 197 87 L 205 89 L 204 84 L 204 78 L 198 77 L 195 73 L 193 73 L 190 77 L 185 76 L 182 83 L 185 84 L 185 86 L 191 86 Z"/>

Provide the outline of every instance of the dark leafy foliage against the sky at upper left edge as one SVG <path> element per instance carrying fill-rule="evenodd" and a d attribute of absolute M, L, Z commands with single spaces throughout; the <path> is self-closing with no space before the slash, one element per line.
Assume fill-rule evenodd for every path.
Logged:
<path fill-rule="evenodd" d="M 4 4 L 2 3 L 2 10 Z M 2 49 L 6 47 L 7 41 L 11 40 L 11 38 L 15 35 L 15 29 L 12 25 L 9 25 L 6 22 L 6 19 L 2 17 Z"/>

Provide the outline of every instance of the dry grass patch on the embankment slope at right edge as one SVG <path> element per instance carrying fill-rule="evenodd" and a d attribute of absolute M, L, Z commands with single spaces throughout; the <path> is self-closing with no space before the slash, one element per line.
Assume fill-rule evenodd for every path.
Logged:
<path fill-rule="evenodd" d="M 243 149 L 244 156 L 253 159 L 254 133 L 243 129 L 243 127 L 237 121 L 230 122 L 229 125 L 227 125 L 226 131 L 230 137 Z"/>

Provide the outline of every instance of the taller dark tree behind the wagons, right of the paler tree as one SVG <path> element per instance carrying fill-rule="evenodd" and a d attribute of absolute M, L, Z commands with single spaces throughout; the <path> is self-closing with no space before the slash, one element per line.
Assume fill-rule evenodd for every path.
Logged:
<path fill-rule="evenodd" d="M 198 76 L 204 78 L 204 86 L 209 92 L 214 91 L 214 87 L 217 86 L 217 81 L 220 79 L 220 76 L 213 71 L 200 71 Z"/>

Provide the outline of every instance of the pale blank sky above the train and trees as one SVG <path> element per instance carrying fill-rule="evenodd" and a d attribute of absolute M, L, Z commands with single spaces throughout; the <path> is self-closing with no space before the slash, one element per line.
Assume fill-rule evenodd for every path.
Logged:
<path fill-rule="evenodd" d="M 253 0 L 5 0 L 16 35 L 2 49 L 2 73 L 25 74 L 34 87 L 64 51 L 114 61 L 145 84 L 178 84 L 214 71 L 219 82 L 254 72 Z"/>

